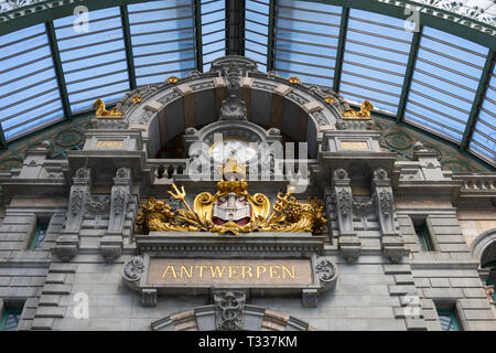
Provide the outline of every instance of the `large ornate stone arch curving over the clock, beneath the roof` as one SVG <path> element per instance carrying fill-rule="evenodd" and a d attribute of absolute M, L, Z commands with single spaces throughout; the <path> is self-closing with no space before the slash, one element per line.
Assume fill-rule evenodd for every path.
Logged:
<path fill-rule="evenodd" d="M 233 78 L 226 69 L 239 71 L 240 75 Z M 237 88 L 233 88 L 233 79 L 237 81 Z M 216 121 L 222 100 L 233 92 L 245 100 L 249 121 L 279 128 L 295 141 L 306 141 L 313 157 L 317 132 L 335 129 L 341 113 L 349 109 L 344 98 L 328 88 L 291 84 L 277 73 L 258 72 L 255 62 L 237 56 L 214 61 L 208 73 L 192 72 L 177 83 L 129 92 L 116 108 L 125 111 L 122 127 L 140 130 L 147 151 L 153 157 L 186 128 Z"/>

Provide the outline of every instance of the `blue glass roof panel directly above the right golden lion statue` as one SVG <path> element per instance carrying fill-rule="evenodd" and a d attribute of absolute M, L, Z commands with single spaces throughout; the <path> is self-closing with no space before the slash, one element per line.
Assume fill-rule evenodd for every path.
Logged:
<path fill-rule="evenodd" d="M 356 92 L 396 114 L 412 36 L 402 20 L 351 9 L 339 87 L 344 97 Z"/>

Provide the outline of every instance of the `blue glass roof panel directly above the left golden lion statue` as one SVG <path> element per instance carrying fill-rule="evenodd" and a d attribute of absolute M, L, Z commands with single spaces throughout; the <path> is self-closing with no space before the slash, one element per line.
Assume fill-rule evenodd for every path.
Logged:
<path fill-rule="evenodd" d="M 77 15 L 54 21 L 73 113 L 90 108 L 93 101 L 80 104 L 88 97 L 111 94 L 116 86 L 129 89 L 119 8 L 91 11 L 88 15 L 87 32 L 77 31 L 72 25 Z"/>

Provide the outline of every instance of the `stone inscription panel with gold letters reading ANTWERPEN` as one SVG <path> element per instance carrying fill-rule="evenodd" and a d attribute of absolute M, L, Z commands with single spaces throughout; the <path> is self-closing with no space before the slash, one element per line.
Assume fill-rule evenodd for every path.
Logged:
<path fill-rule="evenodd" d="M 309 286 L 311 259 L 150 259 L 148 286 Z"/>

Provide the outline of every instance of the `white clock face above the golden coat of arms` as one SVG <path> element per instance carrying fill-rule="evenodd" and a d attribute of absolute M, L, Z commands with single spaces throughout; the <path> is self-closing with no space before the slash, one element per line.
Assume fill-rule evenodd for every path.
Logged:
<path fill-rule="evenodd" d="M 251 148 L 248 141 L 227 138 L 211 146 L 211 156 L 219 163 L 225 163 L 228 158 L 246 163 L 257 157 L 257 150 Z"/>

